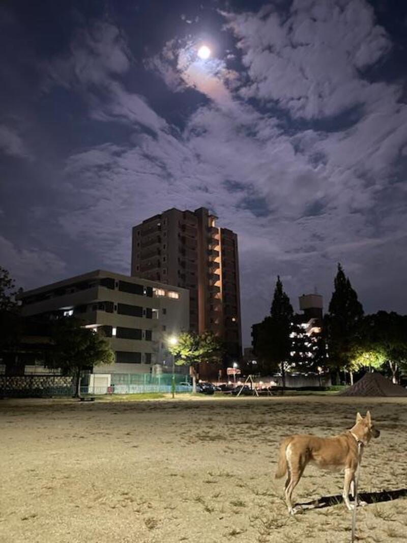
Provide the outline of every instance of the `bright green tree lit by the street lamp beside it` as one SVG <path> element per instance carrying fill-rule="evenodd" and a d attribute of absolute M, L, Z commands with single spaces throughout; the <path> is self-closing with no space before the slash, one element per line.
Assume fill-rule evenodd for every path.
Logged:
<path fill-rule="evenodd" d="M 201 362 L 219 361 L 222 344 L 212 332 L 182 332 L 177 343 L 169 345 L 176 365 L 188 364 L 192 371 L 193 392 L 196 392 L 196 366 Z"/>

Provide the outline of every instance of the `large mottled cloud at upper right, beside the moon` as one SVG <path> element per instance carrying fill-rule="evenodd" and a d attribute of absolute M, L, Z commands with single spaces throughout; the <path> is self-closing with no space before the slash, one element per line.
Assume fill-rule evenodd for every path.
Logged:
<path fill-rule="evenodd" d="M 364 103 L 369 85 L 360 74 L 391 48 L 365 0 L 295 0 L 288 13 L 224 16 L 250 78 L 241 96 L 292 117 L 333 117 Z"/>

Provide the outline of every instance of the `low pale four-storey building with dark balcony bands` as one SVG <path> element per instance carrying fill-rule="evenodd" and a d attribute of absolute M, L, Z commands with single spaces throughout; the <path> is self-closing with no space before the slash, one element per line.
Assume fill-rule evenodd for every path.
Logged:
<path fill-rule="evenodd" d="M 189 329 L 189 292 L 139 277 L 96 270 L 18 296 L 24 317 L 73 315 L 103 330 L 116 362 L 94 373 L 149 373 L 168 364 L 168 338 Z"/>

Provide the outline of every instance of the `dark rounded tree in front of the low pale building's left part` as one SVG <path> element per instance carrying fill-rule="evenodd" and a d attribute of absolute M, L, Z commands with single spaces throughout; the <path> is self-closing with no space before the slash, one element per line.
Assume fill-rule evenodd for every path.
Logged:
<path fill-rule="evenodd" d="M 51 338 L 54 346 L 46 365 L 59 367 L 63 374 L 74 376 L 75 397 L 80 395 L 83 370 L 115 362 L 115 353 L 107 339 L 73 317 L 56 321 Z"/>

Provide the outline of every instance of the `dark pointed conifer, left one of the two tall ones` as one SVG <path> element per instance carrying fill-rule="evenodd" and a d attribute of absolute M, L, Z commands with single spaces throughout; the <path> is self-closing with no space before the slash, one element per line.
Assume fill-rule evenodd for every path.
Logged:
<path fill-rule="evenodd" d="M 292 340 L 292 321 L 294 312 L 290 299 L 283 291 L 283 283 L 277 276 L 274 296 L 271 303 L 270 317 L 266 317 L 257 327 L 253 350 L 260 357 L 263 370 L 278 368 L 281 372 L 283 393 L 285 389 L 285 371 L 290 359 Z"/>

